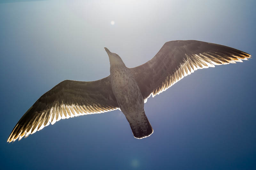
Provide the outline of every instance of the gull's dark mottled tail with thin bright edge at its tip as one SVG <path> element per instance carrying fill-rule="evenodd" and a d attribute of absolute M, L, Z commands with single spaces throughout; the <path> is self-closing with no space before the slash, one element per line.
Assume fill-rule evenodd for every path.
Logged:
<path fill-rule="evenodd" d="M 153 128 L 151 127 L 145 111 L 128 114 L 125 116 L 127 121 L 130 123 L 133 136 L 138 139 L 148 137 L 153 133 Z"/>

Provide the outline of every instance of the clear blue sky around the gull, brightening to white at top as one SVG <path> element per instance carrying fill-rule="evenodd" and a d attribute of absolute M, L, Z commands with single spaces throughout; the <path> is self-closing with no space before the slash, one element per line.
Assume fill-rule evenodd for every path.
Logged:
<path fill-rule="evenodd" d="M 253 0 L 0 1 L 0 166 L 3 169 L 256 169 L 256 3 Z M 114 24 L 113 22 L 114 21 Z M 8 144 L 21 116 L 70 79 L 107 77 L 167 41 L 199 40 L 252 55 L 197 70 L 149 98 L 154 133 L 132 135 L 121 111 L 60 120 Z"/>

